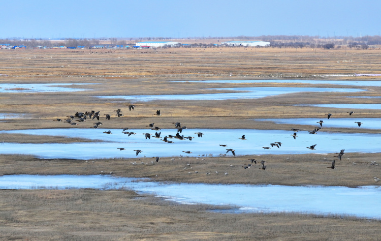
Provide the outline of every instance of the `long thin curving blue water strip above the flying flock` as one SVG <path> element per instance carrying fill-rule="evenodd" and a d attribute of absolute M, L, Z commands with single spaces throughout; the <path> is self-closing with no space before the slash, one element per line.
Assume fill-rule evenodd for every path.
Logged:
<path fill-rule="evenodd" d="M 240 87 L 240 88 L 210 88 L 214 90 L 235 91 L 235 93 L 194 94 L 194 95 L 140 95 L 140 96 L 97 96 L 103 99 L 126 99 L 131 101 L 153 100 L 230 100 L 258 99 L 266 96 L 276 96 L 297 92 L 361 92 L 356 88 L 314 88 L 314 87 Z"/>

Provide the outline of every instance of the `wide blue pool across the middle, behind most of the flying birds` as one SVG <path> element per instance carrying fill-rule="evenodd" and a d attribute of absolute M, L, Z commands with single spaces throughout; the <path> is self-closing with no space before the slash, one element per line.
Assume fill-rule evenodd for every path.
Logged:
<path fill-rule="evenodd" d="M 102 139 L 106 142 L 85 143 L 4 143 L 1 144 L 0 154 L 29 154 L 40 158 L 71 158 L 71 159 L 96 159 L 96 158 L 136 158 L 134 149 L 140 149 L 143 153 L 139 157 L 171 157 L 198 155 L 226 154 L 227 148 L 235 149 L 236 155 L 263 155 L 263 154 L 305 154 L 305 153 L 337 153 L 340 149 L 345 152 L 381 152 L 381 134 L 363 133 L 325 133 L 320 130 L 312 135 L 307 131 L 297 133 L 296 140 L 290 131 L 282 130 L 251 130 L 251 129 L 185 129 L 184 136 L 195 137 L 192 141 L 169 139 L 174 143 L 166 143 L 160 139 L 151 137 L 145 139 L 142 133 L 154 134 L 147 129 L 129 130 L 136 135 L 127 136 L 121 129 L 110 129 L 112 134 L 105 134 L 108 129 L 37 129 L 2 131 L 2 133 L 23 133 L 31 135 L 56 135 L 67 137 L 81 137 L 92 140 Z M 175 135 L 176 129 L 163 129 L 161 136 Z M 197 137 L 195 132 L 204 133 L 202 138 Z M 238 139 L 245 135 L 247 140 Z M 280 148 L 270 146 L 270 143 L 280 141 Z M 227 144 L 227 147 L 219 146 Z M 317 144 L 315 149 L 310 150 L 307 146 Z M 125 150 L 119 150 L 123 147 Z M 189 150 L 192 154 L 184 154 L 182 151 Z M 229 152 L 227 156 L 232 156 Z M 152 159 L 144 159 L 150 162 Z"/>

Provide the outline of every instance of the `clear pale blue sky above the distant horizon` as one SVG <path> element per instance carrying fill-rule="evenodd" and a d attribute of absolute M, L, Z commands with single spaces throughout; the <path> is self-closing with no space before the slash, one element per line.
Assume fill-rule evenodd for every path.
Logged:
<path fill-rule="evenodd" d="M 379 0 L 0 0 L 0 38 L 379 35 Z"/>

